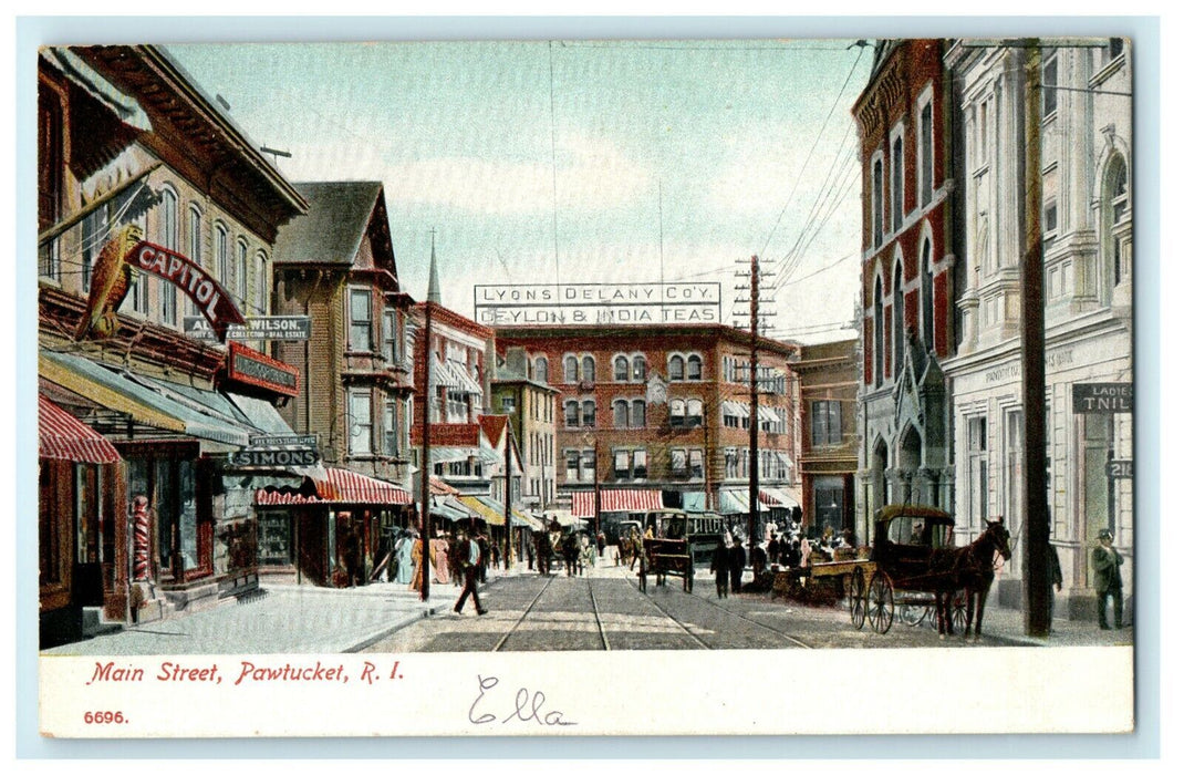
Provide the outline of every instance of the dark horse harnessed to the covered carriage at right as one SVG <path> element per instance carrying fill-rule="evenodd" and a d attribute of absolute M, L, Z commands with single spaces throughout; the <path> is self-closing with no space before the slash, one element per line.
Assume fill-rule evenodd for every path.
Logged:
<path fill-rule="evenodd" d="M 983 608 L 986 606 L 986 594 L 995 582 L 995 555 L 1011 559 L 1011 533 L 1003 525 L 1003 519 L 983 520 L 986 530 L 966 546 L 940 549 L 934 551 L 929 562 L 929 571 L 939 579 L 934 589 L 938 633 L 945 638 L 953 634 L 953 616 L 951 604 L 959 590 L 965 591 L 966 632 L 970 638 L 971 626 L 974 627 L 976 640 L 983 634 Z"/>

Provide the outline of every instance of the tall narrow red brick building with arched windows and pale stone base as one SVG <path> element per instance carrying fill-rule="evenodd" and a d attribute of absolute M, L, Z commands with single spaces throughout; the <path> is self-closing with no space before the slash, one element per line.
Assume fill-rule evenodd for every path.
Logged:
<path fill-rule="evenodd" d="M 953 508 L 950 396 L 959 246 L 958 107 L 941 40 L 880 40 L 852 114 L 863 168 L 856 531 L 887 502 Z"/>

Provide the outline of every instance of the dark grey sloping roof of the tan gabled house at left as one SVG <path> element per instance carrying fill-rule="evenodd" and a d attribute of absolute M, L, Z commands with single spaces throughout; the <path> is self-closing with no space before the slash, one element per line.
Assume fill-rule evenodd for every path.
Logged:
<path fill-rule="evenodd" d="M 382 192 L 377 180 L 297 182 L 308 214 L 276 239 L 277 264 L 353 264 Z"/>

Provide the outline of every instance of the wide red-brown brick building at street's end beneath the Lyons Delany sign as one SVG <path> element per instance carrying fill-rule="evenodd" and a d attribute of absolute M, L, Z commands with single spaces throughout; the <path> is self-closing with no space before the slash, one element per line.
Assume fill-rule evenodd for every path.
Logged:
<path fill-rule="evenodd" d="M 598 483 L 601 512 L 643 502 L 748 513 L 748 344 L 716 325 L 497 332 L 501 353 L 521 347 L 532 378 L 559 390 L 559 499 Z M 798 346 L 761 338 L 758 356 L 759 510 L 787 515 L 800 502 Z"/>

